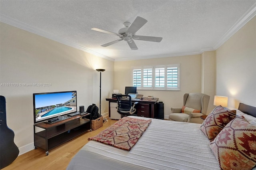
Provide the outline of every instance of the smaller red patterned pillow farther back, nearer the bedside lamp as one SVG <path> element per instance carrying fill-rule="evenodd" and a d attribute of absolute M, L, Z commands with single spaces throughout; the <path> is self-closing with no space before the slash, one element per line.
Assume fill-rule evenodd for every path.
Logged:
<path fill-rule="evenodd" d="M 229 110 L 225 107 L 217 106 L 206 117 L 200 128 L 208 139 L 212 141 L 217 134 L 235 117 L 236 110 Z"/>

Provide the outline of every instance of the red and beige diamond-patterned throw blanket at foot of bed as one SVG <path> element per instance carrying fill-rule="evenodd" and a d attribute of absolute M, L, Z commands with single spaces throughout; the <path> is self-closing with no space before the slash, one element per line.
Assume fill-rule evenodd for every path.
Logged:
<path fill-rule="evenodd" d="M 104 144 L 130 151 L 143 132 L 151 123 L 150 120 L 123 117 L 98 135 L 88 138 Z"/>

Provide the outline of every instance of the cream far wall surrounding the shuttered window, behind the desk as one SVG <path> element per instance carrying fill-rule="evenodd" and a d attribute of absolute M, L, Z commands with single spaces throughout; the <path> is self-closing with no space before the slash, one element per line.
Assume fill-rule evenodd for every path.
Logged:
<path fill-rule="evenodd" d="M 115 61 L 114 89 L 124 94 L 125 86 L 132 86 L 132 67 L 180 64 L 180 90 L 138 90 L 144 96 L 153 95 L 164 103 L 168 119 L 171 107 L 182 107 L 184 93 L 201 93 L 201 55 L 187 55 L 134 61 Z"/>

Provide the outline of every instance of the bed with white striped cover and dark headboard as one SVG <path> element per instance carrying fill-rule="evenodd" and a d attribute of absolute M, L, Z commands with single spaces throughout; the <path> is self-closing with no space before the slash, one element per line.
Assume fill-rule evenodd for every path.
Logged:
<path fill-rule="evenodd" d="M 256 107 L 240 103 L 237 111 L 238 115 L 256 117 Z M 210 140 L 200 129 L 200 124 L 151 120 L 130 151 L 91 140 L 72 158 L 67 170 L 220 169 L 219 162 L 209 147 Z"/>

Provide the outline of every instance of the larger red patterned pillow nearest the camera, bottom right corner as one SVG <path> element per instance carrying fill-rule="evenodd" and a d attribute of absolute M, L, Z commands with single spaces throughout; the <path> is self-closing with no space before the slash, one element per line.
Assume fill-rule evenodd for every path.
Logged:
<path fill-rule="evenodd" d="M 230 121 L 210 143 L 223 170 L 250 170 L 256 165 L 256 126 L 243 117 Z"/>

